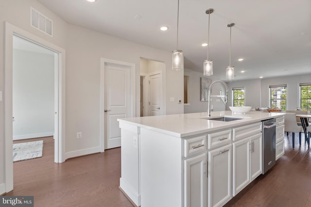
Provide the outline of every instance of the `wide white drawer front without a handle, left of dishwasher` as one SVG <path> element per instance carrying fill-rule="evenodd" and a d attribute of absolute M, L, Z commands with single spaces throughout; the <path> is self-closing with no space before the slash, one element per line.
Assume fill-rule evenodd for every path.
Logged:
<path fill-rule="evenodd" d="M 258 134 L 262 131 L 261 122 L 236 127 L 232 129 L 232 141 L 242 140 L 243 138 Z"/>

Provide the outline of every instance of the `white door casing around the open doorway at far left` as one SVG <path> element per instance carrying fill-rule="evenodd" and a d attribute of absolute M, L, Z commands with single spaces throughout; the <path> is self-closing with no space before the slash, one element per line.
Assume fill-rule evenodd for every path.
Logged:
<path fill-rule="evenodd" d="M 19 37 L 54 52 L 54 162 L 65 161 L 65 50 L 5 22 L 4 41 L 4 129 L 5 129 L 5 191 L 13 190 L 13 38 Z M 31 92 L 30 92 L 31 93 Z"/>

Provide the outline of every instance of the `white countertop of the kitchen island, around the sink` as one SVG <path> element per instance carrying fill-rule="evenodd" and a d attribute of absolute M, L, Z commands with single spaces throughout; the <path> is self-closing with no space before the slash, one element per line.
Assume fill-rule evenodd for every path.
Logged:
<path fill-rule="evenodd" d="M 251 124 L 270 118 L 276 118 L 283 116 L 284 113 L 249 111 L 244 114 L 235 114 L 232 111 L 212 111 L 211 117 L 208 118 L 217 118 L 224 115 L 242 119 L 229 122 L 208 120 L 204 119 L 207 118 L 207 112 L 201 112 L 162 116 L 132 117 L 118 119 L 118 121 L 138 127 L 148 128 L 175 137 L 185 137 L 199 133 L 225 129 L 228 127 L 237 127 L 245 124 Z"/>

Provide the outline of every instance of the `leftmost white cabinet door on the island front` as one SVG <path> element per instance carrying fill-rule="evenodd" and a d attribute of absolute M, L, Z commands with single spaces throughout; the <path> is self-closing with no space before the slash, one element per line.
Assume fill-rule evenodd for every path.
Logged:
<path fill-rule="evenodd" d="M 207 206 L 207 154 L 185 160 L 185 207 Z"/>

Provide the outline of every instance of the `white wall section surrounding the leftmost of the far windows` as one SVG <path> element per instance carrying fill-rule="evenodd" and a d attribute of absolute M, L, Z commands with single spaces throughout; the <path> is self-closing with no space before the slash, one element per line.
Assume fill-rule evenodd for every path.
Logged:
<path fill-rule="evenodd" d="M 229 102 L 226 105 L 226 110 L 229 110 L 229 106 L 233 106 L 232 103 L 232 88 L 244 87 L 245 90 L 245 106 L 251 106 L 253 108 L 260 107 L 260 90 L 261 90 L 261 79 L 254 80 L 239 80 L 227 82 L 229 86 Z"/>

